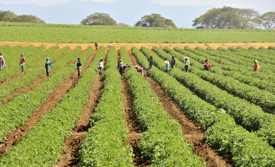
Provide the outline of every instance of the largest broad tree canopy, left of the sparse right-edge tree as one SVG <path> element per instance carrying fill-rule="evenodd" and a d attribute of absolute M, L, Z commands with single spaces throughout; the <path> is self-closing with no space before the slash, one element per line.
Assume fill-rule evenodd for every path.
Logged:
<path fill-rule="evenodd" d="M 193 27 L 206 29 L 248 29 L 255 28 L 255 18 L 259 16 L 254 9 L 239 9 L 224 6 L 212 8 L 193 20 Z"/>

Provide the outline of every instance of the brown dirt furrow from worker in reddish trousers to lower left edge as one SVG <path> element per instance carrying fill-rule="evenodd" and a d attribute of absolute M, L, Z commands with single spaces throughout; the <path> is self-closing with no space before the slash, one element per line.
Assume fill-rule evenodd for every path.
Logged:
<path fill-rule="evenodd" d="M 92 61 L 92 58 L 94 57 L 94 54 L 92 56 L 89 57 L 89 59 L 87 60 L 86 65 L 84 66 L 83 70 L 87 68 L 87 64 L 89 64 Z M 57 106 L 57 104 L 59 103 L 59 100 L 73 87 L 75 87 L 79 77 L 77 76 L 77 71 L 75 71 L 75 73 L 73 73 L 72 75 L 70 75 L 70 77 L 66 78 L 53 92 L 51 92 L 48 95 L 47 100 L 45 100 L 39 109 L 37 109 L 36 112 L 34 112 L 32 114 L 31 117 L 28 118 L 28 122 L 20 127 L 18 127 L 17 129 L 10 131 L 9 134 L 6 136 L 5 140 L 0 143 L 3 144 L 2 147 L 0 148 L 0 157 L 7 151 L 10 150 L 10 148 L 12 148 L 13 146 L 16 146 L 18 144 L 18 141 L 20 140 L 20 138 L 26 134 L 28 131 L 30 131 L 30 128 L 35 126 L 38 121 L 40 120 L 40 118 L 47 114 L 48 112 L 51 111 L 51 109 L 53 109 L 54 107 Z M 43 77 L 45 77 L 44 75 L 42 76 L 42 78 L 40 77 L 40 80 L 42 80 L 41 82 L 43 82 Z M 36 81 L 35 81 L 36 82 Z M 35 83 L 35 84 L 39 84 L 39 82 Z M 33 89 L 33 87 L 35 87 L 32 84 L 24 89 L 26 90 L 31 90 Z M 22 92 L 26 92 L 25 90 L 21 90 Z M 21 93 L 22 93 L 21 92 Z M 18 92 L 17 92 L 18 93 Z M 15 93 L 15 94 L 17 94 Z M 20 93 L 20 94 L 21 94 Z M 15 95 L 13 94 L 13 95 Z M 19 93 L 18 93 L 19 94 Z M 12 96 L 13 97 L 13 96 Z M 11 97 L 11 98 L 12 98 Z"/>

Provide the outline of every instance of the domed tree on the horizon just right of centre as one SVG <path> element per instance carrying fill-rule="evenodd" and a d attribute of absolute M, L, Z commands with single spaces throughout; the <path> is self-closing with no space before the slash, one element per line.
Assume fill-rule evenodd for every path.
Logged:
<path fill-rule="evenodd" d="M 171 27 L 177 28 L 172 20 L 162 17 L 160 14 L 152 13 L 145 15 L 137 21 L 134 26 L 138 27 Z"/>

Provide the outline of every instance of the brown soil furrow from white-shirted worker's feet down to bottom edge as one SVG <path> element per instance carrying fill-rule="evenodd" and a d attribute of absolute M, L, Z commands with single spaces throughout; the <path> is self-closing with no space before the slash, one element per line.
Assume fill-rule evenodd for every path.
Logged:
<path fill-rule="evenodd" d="M 104 59 L 104 64 L 106 62 L 106 56 Z M 88 63 L 87 63 L 88 64 Z M 104 65 L 105 66 L 105 65 Z M 95 111 L 98 100 L 101 97 L 102 89 L 104 87 L 104 80 L 97 74 L 92 88 L 89 90 L 90 99 L 88 103 L 83 107 L 83 112 L 75 124 L 72 132 L 72 136 L 65 139 L 65 149 L 62 151 L 62 158 L 57 160 L 58 166 L 79 166 L 79 147 L 83 142 L 84 136 L 87 134 L 90 128 L 90 118 Z"/>

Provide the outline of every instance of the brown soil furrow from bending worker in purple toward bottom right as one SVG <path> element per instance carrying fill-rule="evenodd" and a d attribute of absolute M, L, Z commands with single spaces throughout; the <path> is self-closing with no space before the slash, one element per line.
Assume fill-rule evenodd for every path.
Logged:
<path fill-rule="evenodd" d="M 132 63 L 138 64 L 135 57 L 131 54 L 131 50 L 128 51 Z M 156 68 L 156 67 L 155 67 Z M 147 76 L 147 72 L 144 72 L 144 78 L 149 81 L 151 89 L 158 95 L 161 105 L 169 115 L 178 121 L 182 127 L 183 135 L 187 138 L 187 141 L 194 143 L 194 153 L 200 157 L 206 158 L 208 166 L 232 166 L 232 155 L 223 154 L 218 152 L 217 149 L 204 143 L 204 131 L 202 128 L 194 125 L 194 121 L 190 119 L 190 116 L 180 109 L 180 107 L 172 100 L 172 98 L 164 92 L 161 86 L 152 78 Z"/>

